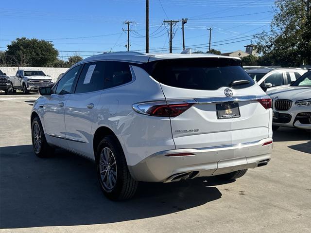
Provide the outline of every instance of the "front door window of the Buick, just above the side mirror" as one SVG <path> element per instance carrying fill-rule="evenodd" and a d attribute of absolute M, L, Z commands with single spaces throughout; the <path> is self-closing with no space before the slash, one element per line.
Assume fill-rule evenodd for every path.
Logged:
<path fill-rule="evenodd" d="M 81 65 L 72 68 L 58 82 L 55 94 L 70 94 L 71 88 L 80 71 Z"/>

